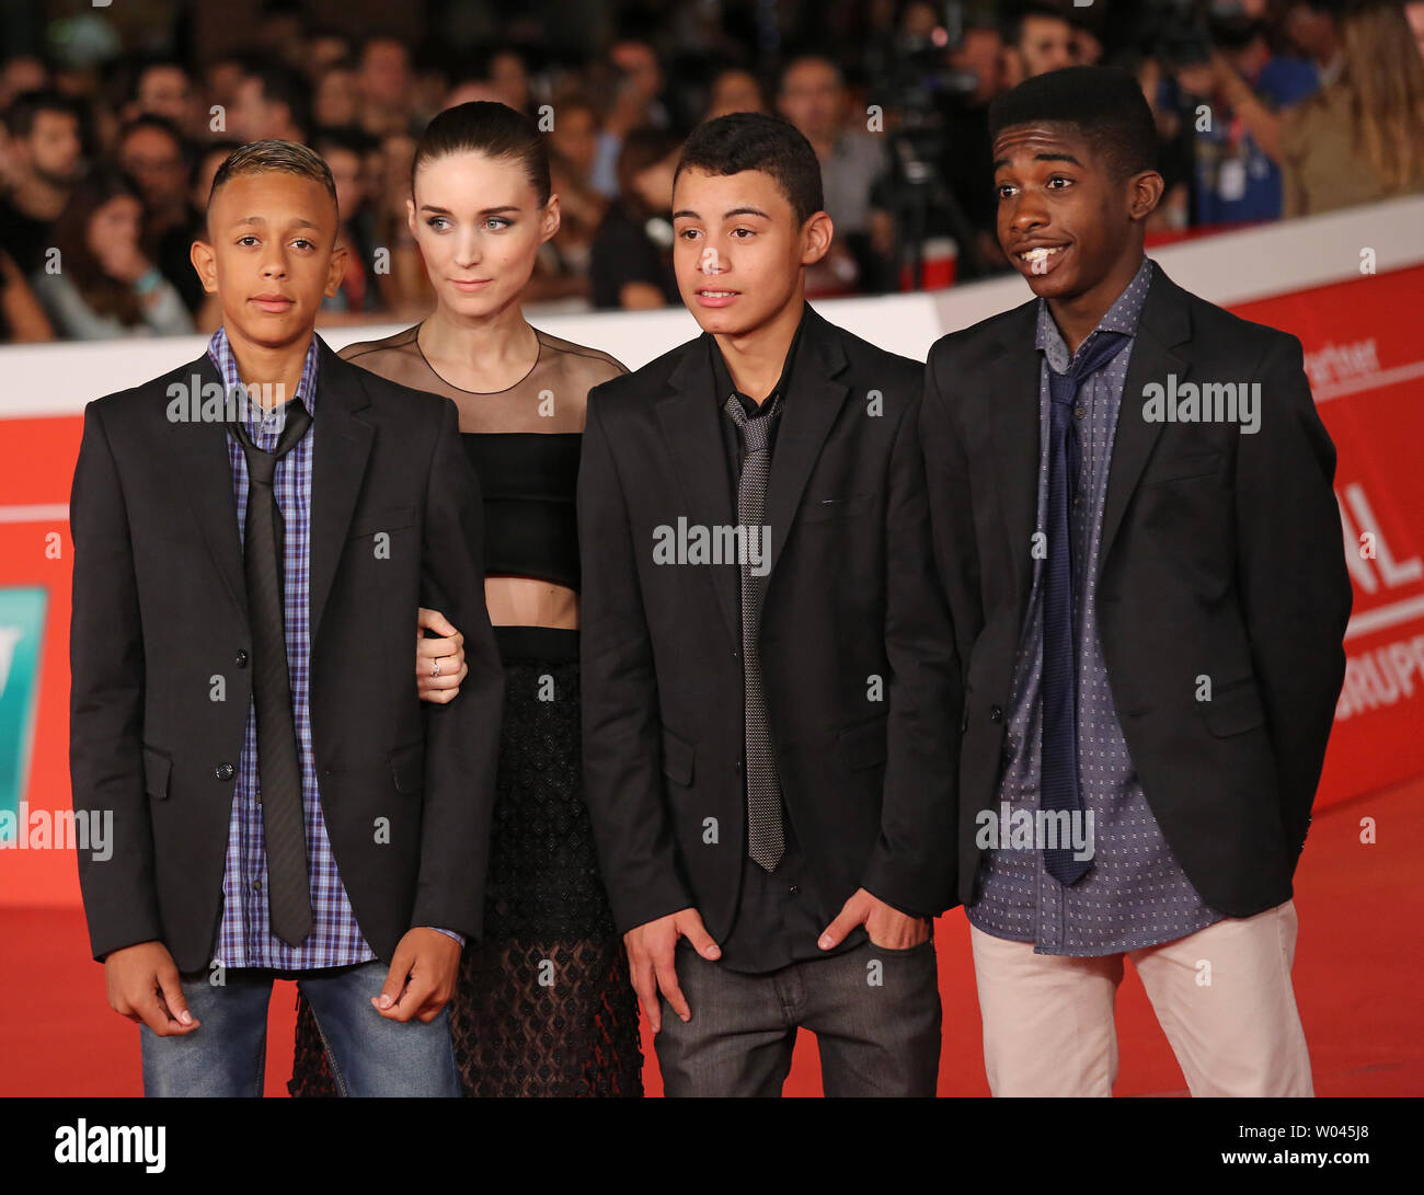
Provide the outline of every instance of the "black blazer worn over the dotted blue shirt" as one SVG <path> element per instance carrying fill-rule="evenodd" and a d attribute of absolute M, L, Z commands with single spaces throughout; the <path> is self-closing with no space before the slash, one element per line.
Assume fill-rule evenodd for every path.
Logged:
<path fill-rule="evenodd" d="M 1038 301 L 930 352 L 920 420 L 936 557 L 965 661 L 960 897 L 975 815 L 997 808 L 1032 583 Z M 1260 427 L 1143 419 L 1145 385 L 1260 382 Z M 1148 805 L 1208 904 L 1290 896 L 1350 617 L 1334 446 L 1294 336 L 1189 295 L 1155 266 L 1108 474 L 1098 628 Z M 1209 677 L 1210 701 L 1198 701 Z"/>

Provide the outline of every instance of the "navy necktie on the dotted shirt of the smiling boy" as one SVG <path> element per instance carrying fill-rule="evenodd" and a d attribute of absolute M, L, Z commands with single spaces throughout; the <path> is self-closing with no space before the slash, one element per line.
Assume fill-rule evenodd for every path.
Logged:
<path fill-rule="evenodd" d="M 1074 407 L 1082 379 L 1112 360 L 1128 340 L 1124 332 L 1094 332 L 1088 352 L 1067 373 L 1055 373 L 1051 366 L 1048 369 L 1048 567 L 1044 570 L 1044 675 L 1040 688 L 1040 806 L 1054 812 L 1068 810 L 1071 818 L 1082 816 L 1082 793 L 1078 786 L 1078 667 L 1072 627 L 1072 530 L 1068 518 L 1078 490 L 1082 456 Z M 1048 875 L 1059 883 L 1077 883 L 1092 866 L 1091 859 L 1074 859 L 1071 846 L 1045 846 L 1042 850 Z"/>

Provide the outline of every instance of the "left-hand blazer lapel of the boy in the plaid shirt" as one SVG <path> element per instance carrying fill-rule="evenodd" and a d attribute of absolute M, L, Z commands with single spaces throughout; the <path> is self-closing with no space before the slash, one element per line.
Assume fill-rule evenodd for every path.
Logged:
<path fill-rule="evenodd" d="M 184 372 L 181 385 L 201 387 L 198 399 L 222 393 L 222 379 L 212 359 L 204 353 Z M 216 386 L 214 392 L 212 386 Z M 248 617 L 246 575 L 242 565 L 242 541 L 238 537 L 238 504 L 232 497 L 232 463 L 228 460 L 228 429 L 219 420 L 165 420 L 169 444 L 178 459 L 182 501 L 198 520 L 204 543 L 218 565 L 218 575 L 232 597 L 244 621 Z"/>

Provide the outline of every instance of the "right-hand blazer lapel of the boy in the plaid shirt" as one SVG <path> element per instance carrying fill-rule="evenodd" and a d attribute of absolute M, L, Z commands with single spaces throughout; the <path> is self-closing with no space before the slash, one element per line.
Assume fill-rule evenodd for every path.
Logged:
<path fill-rule="evenodd" d="M 316 412 L 318 430 L 312 457 L 312 642 L 322 625 L 322 612 L 336 577 L 336 564 L 346 543 L 356 499 L 366 477 L 375 427 L 357 412 L 370 406 L 360 370 L 343 362 L 318 338 Z"/>

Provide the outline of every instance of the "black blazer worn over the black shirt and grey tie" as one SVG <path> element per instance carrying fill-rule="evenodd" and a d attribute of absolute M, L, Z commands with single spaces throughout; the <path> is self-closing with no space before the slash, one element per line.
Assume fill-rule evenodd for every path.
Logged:
<path fill-rule="evenodd" d="M 588 402 L 584 783 L 619 932 L 695 906 L 723 936 L 746 850 L 736 564 L 654 563 L 659 526 L 736 523 L 709 339 Z M 772 456 L 762 672 L 827 922 L 862 886 L 918 913 L 953 900 L 960 667 L 916 437 L 923 372 L 807 311 Z"/>

